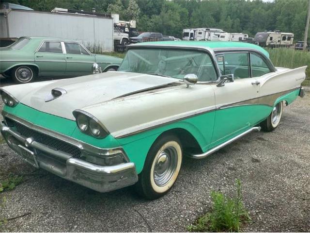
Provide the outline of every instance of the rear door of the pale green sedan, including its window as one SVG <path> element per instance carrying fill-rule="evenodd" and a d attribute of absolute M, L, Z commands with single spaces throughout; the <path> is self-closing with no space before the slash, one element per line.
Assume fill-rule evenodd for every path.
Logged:
<path fill-rule="evenodd" d="M 43 41 L 34 53 L 35 64 L 41 75 L 63 75 L 66 69 L 66 60 L 60 41 Z"/>

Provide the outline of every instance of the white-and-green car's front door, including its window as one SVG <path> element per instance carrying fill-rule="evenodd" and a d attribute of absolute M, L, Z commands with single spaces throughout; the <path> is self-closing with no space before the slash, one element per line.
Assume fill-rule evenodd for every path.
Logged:
<path fill-rule="evenodd" d="M 213 144 L 220 144 L 255 125 L 260 119 L 259 108 L 251 103 L 258 97 L 257 80 L 251 78 L 247 51 L 217 54 L 222 75 L 234 75 L 234 82 L 213 85 L 216 116 Z"/>

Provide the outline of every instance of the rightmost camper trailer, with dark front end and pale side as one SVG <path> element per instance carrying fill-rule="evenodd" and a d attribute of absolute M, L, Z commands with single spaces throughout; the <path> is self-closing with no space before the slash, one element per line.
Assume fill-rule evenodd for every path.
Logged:
<path fill-rule="evenodd" d="M 293 45 L 293 33 L 263 32 L 256 33 L 254 43 L 263 47 L 290 47 Z"/>

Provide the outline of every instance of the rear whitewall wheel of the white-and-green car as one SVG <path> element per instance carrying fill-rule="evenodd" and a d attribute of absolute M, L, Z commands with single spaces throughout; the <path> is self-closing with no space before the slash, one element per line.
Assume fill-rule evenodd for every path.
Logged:
<path fill-rule="evenodd" d="M 274 106 L 271 114 L 261 123 L 263 131 L 271 132 L 275 130 L 280 123 L 283 112 L 283 102 L 279 102 Z"/>

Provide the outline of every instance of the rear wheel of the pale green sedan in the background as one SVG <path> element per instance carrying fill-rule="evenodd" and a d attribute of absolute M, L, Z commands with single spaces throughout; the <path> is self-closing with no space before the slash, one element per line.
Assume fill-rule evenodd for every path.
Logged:
<path fill-rule="evenodd" d="M 36 70 L 29 66 L 19 66 L 12 70 L 15 83 L 31 83 L 36 77 Z"/>

